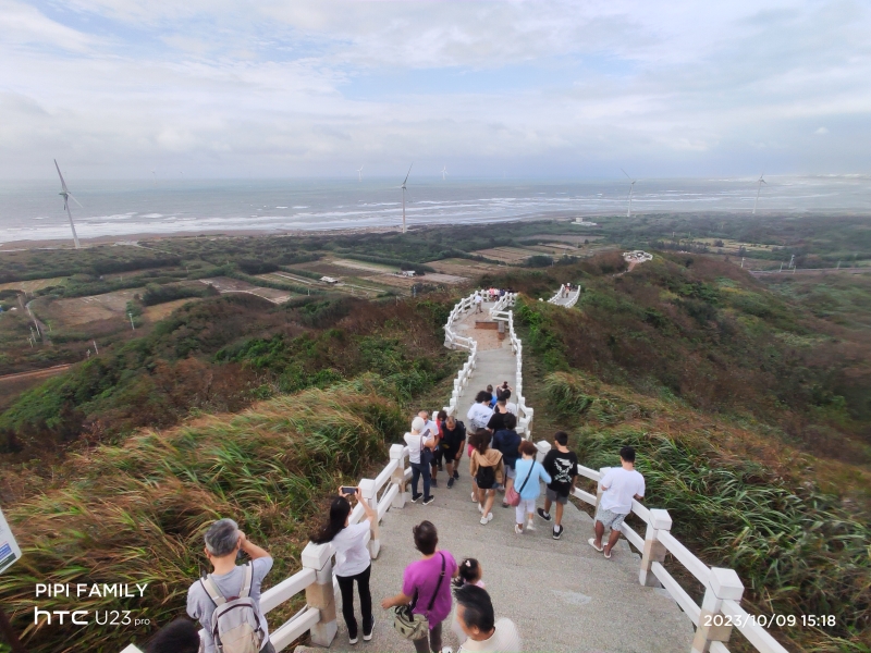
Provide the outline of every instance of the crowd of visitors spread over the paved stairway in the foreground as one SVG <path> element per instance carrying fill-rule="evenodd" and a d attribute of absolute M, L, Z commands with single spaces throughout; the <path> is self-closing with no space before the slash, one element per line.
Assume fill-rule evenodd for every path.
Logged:
<path fill-rule="evenodd" d="M 515 508 L 514 532 L 523 535 L 536 530 L 536 515 L 553 522 L 552 538 L 563 532 L 563 512 L 575 490 L 578 459 L 568 448 L 568 434 L 560 431 L 553 446 L 541 459 L 538 447 L 516 431 L 516 406 L 512 389 L 503 382 L 495 390 L 479 392 L 466 416 L 469 427 L 445 411 L 434 420 L 421 410 L 405 434 L 412 466 L 412 502 L 429 505 L 434 501 L 439 471 L 446 468 L 446 489 L 459 479 L 459 463 L 467 452 L 471 480 L 471 501 L 478 504 L 480 523 L 493 520 L 496 493 L 504 493 L 502 507 Z M 600 481 L 593 537 L 588 540 L 597 552 L 611 558 L 619 539 L 619 527 L 631 512 L 633 500 L 645 495 L 645 479 L 635 469 L 635 451 L 619 451 L 621 466 L 612 468 Z M 422 492 L 421 490 L 422 481 Z M 541 484 L 544 502 L 538 507 Z M 352 491 L 353 490 L 353 491 Z M 365 518 L 349 523 L 354 500 L 363 506 Z M 422 501 L 421 501 L 422 500 Z M 553 510 L 553 514 L 552 512 Z M 311 535 L 316 544 L 330 543 L 335 552 L 333 572 L 342 595 L 342 617 L 348 643 L 372 639 L 376 616 L 369 581 L 372 572 L 367 543 L 377 513 L 359 489 L 340 488 L 330 502 L 322 527 Z M 608 539 L 606 529 L 611 529 Z M 458 651 L 522 650 L 516 626 L 507 618 L 496 619 L 492 599 L 483 581 L 481 560 L 465 558 L 457 563 L 439 546 L 436 525 L 424 520 L 414 528 L 414 546 L 419 559 L 409 564 L 402 588 L 381 601 L 392 611 L 394 621 L 407 626 L 404 632 L 417 653 L 446 653 L 443 624 L 450 617 L 450 631 L 459 643 Z M 205 533 L 204 554 L 211 572 L 196 580 L 187 593 L 187 615 L 161 629 L 148 646 L 149 653 L 274 653 L 269 627 L 260 607 L 260 589 L 272 568 L 269 553 L 253 543 L 232 519 L 219 519 Z M 247 562 L 240 564 L 241 557 Z M 356 584 L 360 617 L 355 616 Z M 455 600 L 455 605 L 454 605 Z M 405 619 L 405 621 L 402 621 Z M 203 638 L 196 621 L 203 627 Z M 397 626 L 397 630 L 400 627 Z"/>

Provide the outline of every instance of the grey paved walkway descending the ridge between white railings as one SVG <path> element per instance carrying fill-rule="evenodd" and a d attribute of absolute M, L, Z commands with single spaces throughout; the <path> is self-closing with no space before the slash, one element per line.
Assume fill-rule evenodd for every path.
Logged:
<path fill-rule="evenodd" d="M 470 313 L 456 330 L 476 337 L 476 319 L 488 317 L 488 313 Z M 477 333 L 494 332 L 477 330 Z M 474 395 L 488 383 L 496 385 L 507 380 L 514 385 L 516 368 L 508 338 L 493 342 L 491 348 L 484 348 L 484 340 L 492 342 L 478 341 L 478 366 L 457 404 L 464 421 Z M 414 650 L 410 642 L 396 634 L 380 602 L 398 593 L 403 569 L 418 558 L 412 528 L 424 519 L 436 523 L 440 546 L 457 562 L 464 557 L 480 560 L 496 616 L 517 624 L 525 651 L 686 653 L 689 650 L 692 627 L 664 590 L 638 583 L 639 557 L 624 541 L 612 559 L 604 559 L 587 544 L 592 520 L 572 504 L 566 506 L 565 532 L 559 541 L 551 538 L 550 525 L 541 519 L 537 521 L 538 530 L 515 534 L 514 508 L 500 507 L 499 496 L 493 521 L 481 526 L 477 505 L 469 496 L 465 456 L 459 473 L 459 481 L 450 490 L 444 485 L 446 475 L 441 475 L 442 482 L 433 490 L 436 501 L 429 506 L 406 504 L 403 509 L 384 515 L 381 552 L 371 577 L 375 637 L 371 642 L 349 645 L 340 608 L 339 634 L 331 650 Z M 456 649 L 450 624 L 445 624 L 444 632 L 444 645 Z"/>

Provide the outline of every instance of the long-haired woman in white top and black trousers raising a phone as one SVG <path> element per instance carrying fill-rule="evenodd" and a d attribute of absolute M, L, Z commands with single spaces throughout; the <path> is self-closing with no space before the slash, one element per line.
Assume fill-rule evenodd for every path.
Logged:
<path fill-rule="evenodd" d="M 353 496 L 363 506 L 366 519 L 353 526 L 351 519 L 351 502 Z M 344 494 L 339 488 L 339 496 L 330 504 L 330 518 L 321 529 L 310 539 L 315 544 L 332 543 L 335 549 L 335 566 L 333 574 L 339 581 L 342 592 L 342 616 L 347 626 L 348 643 L 357 643 L 357 619 L 354 617 L 354 582 L 360 595 L 360 612 L 363 614 L 363 641 L 372 639 L 372 594 L 369 591 L 369 576 L 372 571 L 372 558 L 366 546 L 372 525 L 378 521 L 378 515 L 360 494 L 357 488 L 354 494 Z"/>

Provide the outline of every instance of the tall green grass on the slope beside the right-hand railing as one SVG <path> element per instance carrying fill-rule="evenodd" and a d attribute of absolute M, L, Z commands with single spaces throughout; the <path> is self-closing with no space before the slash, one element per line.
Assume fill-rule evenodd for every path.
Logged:
<path fill-rule="evenodd" d="M 666 508 L 672 532 L 706 563 L 736 569 L 756 611 L 837 617 L 837 626 L 824 631 L 784 629 L 792 643 L 809 651 L 868 650 L 868 517 L 821 492 L 812 469 L 801 477 L 784 473 L 778 460 L 764 457 L 785 448 L 771 442 L 760 443 L 761 458 L 737 456 L 723 446 L 722 429 L 677 403 L 638 397 L 580 374 L 551 374 L 545 391 L 564 417 L 580 417 L 575 445 L 581 464 L 614 466 L 621 446 L 636 448 L 646 504 Z M 676 427 L 668 433 L 653 419 L 666 412 Z M 848 640 L 864 643 L 844 648 Z"/>

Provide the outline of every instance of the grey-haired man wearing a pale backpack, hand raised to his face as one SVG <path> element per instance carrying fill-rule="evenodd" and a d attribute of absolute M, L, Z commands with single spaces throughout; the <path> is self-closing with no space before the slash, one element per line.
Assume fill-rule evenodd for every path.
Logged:
<path fill-rule="evenodd" d="M 204 540 L 212 572 L 187 590 L 187 616 L 198 620 L 204 628 L 204 653 L 217 652 L 214 638 L 217 633 L 220 639 L 220 619 L 225 614 L 219 608 L 235 601 L 244 604 L 238 612 L 252 625 L 253 645 L 259 646 L 262 653 L 275 653 L 269 641 L 269 625 L 260 608 L 260 586 L 272 568 L 272 556 L 248 540 L 232 519 L 219 519 L 212 523 Z M 250 562 L 236 565 L 240 551 L 246 553 Z M 212 619 L 216 612 L 218 618 Z"/>

